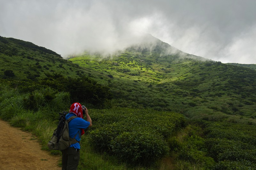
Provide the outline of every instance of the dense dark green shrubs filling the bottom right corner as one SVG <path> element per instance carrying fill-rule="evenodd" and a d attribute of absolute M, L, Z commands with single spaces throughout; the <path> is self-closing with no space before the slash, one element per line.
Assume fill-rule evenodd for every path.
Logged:
<path fill-rule="evenodd" d="M 250 169 L 256 166 L 255 126 L 233 123 L 206 123 L 206 148 L 218 162 L 216 169 Z"/>

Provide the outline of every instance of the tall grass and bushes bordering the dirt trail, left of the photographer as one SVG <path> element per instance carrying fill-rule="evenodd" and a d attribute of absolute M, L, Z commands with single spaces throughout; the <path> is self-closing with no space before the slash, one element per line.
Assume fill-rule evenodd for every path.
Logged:
<path fill-rule="evenodd" d="M 0 118 L 9 121 L 14 127 L 33 132 L 39 137 L 43 149 L 47 149 L 48 140 L 58 123 L 58 112 L 68 109 L 70 95 L 50 88 L 35 90 L 32 95 L 19 93 L 18 89 L 2 88 Z M 46 95 L 48 98 L 52 96 L 51 100 Z M 28 104 L 33 107 L 28 109 Z"/>

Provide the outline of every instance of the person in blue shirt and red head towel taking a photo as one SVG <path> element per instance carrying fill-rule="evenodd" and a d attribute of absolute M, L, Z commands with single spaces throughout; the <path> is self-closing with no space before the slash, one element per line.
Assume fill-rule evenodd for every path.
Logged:
<path fill-rule="evenodd" d="M 84 115 L 86 120 L 84 120 Z M 69 136 L 77 141 L 75 144 L 71 144 L 69 148 L 62 152 L 62 169 L 77 169 L 80 159 L 80 140 L 81 135 L 84 135 L 84 129 L 92 126 L 92 120 L 88 114 L 88 110 L 80 103 L 73 103 L 70 107 L 69 113 L 66 115 L 66 120 L 71 116 L 77 116 L 78 118 L 72 119 L 68 123 Z"/>

